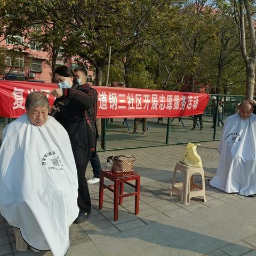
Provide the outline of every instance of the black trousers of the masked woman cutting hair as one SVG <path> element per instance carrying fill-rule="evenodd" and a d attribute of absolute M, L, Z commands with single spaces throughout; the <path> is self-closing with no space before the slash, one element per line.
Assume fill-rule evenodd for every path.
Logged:
<path fill-rule="evenodd" d="M 89 162 L 89 159 L 88 159 Z M 78 197 L 77 205 L 79 207 L 79 213 L 87 212 L 91 209 L 91 197 L 85 178 L 85 171 L 88 162 L 84 165 L 77 165 L 77 178 L 78 178 Z"/>

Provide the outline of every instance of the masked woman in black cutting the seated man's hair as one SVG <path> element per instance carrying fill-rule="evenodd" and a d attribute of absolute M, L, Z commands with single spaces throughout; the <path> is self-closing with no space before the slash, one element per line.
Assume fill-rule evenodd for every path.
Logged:
<path fill-rule="evenodd" d="M 97 92 L 90 86 L 79 86 L 73 71 L 67 66 L 55 69 L 54 77 L 59 89 L 51 94 L 57 99 L 50 112 L 62 124 L 69 134 L 73 154 L 75 157 L 78 176 L 79 215 L 74 223 L 84 222 L 91 213 L 91 198 L 85 179 L 85 171 L 91 155 L 95 152 L 97 128 Z M 58 111 L 54 111 L 57 109 Z"/>

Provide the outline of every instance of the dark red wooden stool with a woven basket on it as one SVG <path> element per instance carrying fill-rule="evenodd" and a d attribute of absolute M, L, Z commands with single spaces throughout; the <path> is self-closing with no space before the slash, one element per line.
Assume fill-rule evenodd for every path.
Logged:
<path fill-rule="evenodd" d="M 104 178 L 107 178 L 114 182 L 114 185 L 105 185 Z M 135 180 L 135 186 L 127 181 Z M 135 192 L 124 195 L 124 183 L 135 188 Z M 113 189 L 114 187 L 114 189 Z M 123 197 L 134 196 L 135 195 L 135 214 L 139 213 L 139 203 L 140 203 L 140 174 L 137 172 L 125 172 L 125 173 L 116 173 L 116 172 L 100 172 L 100 194 L 99 194 L 99 209 L 102 209 L 103 204 L 103 189 L 107 188 L 108 190 L 114 193 L 114 220 L 118 220 L 118 204 L 123 203 Z"/>

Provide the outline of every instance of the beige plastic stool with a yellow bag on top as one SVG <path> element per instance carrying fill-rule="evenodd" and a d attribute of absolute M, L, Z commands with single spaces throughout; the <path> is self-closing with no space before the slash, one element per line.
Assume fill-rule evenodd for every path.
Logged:
<path fill-rule="evenodd" d="M 181 185 L 182 183 L 175 183 L 175 177 L 177 171 L 180 171 L 183 174 L 183 188 L 182 190 L 178 189 L 174 185 Z M 202 187 L 194 183 L 194 174 L 200 173 L 202 175 Z M 194 191 L 195 188 L 200 190 Z M 204 169 L 203 167 L 191 167 L 181 162 L 178 162 L 175 165 L 174 172 L 173 172 L 173 179 L 172 179 L 172 188 L 171 188 L 171 196 L 172 193 L 180 195 L 181 202 L 183 204 L 189 204 L 190 198 L 203 196 L 204 202 L 206 202 L 205 196 L 205 183 L 204 183 Z"/>

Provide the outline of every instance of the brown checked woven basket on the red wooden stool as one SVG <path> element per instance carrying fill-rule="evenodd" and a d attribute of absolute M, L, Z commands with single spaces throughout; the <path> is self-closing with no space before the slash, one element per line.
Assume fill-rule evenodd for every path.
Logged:
<path fill-rule="evenodd" d="M 136 158 L 134 156 L 124 156 L 124 155 L 115 156 L 111 171 L 118 172 L 118 173 L 133 172 L 135 160 Z"/>

